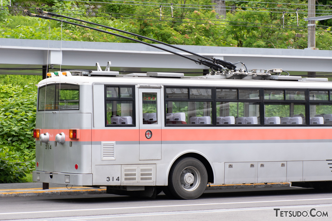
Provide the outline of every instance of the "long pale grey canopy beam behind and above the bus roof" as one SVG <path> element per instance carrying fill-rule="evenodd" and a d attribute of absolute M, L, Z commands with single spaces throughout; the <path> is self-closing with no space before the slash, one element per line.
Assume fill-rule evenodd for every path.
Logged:
<path fill-rule="evenodd" d="M 166 47 L 160 45 L 161 47 Z M 271 48 L 238 48 L 177 45 L 181 48 L 230 62 L 242 61 L 248 69 L 282 68 L 286 71 L 331 73 L 332 51 Z M 187 53 L 176 52 L 188 55 Z M 48 51 L 48 56 L 47 56 Z M 196 56 L 188 55 L 196 58 Z M 48 60 L 47 60 L 48 58 Z M 206 66 L 139 43 L 31 40 L 0 38 L 0 74 L 37 74 L 41 70 L 3 68 L 54 68 L 96 70 L 112 62 L 114 71 L 203 72 Z M 237 64 L 238 67 L 240 67 Z"/>

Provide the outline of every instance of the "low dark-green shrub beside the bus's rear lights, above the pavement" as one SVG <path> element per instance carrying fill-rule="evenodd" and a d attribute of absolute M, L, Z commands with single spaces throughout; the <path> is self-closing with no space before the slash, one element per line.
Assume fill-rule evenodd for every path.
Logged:
<path fill-rule="evenodd" d="M 0 183 L 22 183 L 26 173 L 34 168 L 34 151 L 16 152 L 7 146 L 0 147 Z M 21 163 L 27 162 L 27 163 Z"/>

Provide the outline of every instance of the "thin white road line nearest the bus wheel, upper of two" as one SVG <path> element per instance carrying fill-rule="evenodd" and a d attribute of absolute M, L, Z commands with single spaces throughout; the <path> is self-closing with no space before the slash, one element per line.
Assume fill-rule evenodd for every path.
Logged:
<path fill-rule="evenodd" d="M 289 200 L 269 200 L 269 201 L 251 201 L 251 202 L 226 202 L 226 203 L 201 203 L 201 204 L 165 205 L 165 206 L 135 206 L 135 207 L 116 207 L 116 208 L 98 208 L 98 209 L 68 209 L 68 210 L 49 210 L 49 211 L 32 211 L 32 212 L 11 212 L 11 213 L 0 213 L 0 215 L 25 214 L 25 213 L 91 211 L 91 210 L 113 210 L 113 209 L 141 209 L 141 208 L 176 207 L 176 206 L 204 206 L 204 205 L 242 204 L 242 203 L 295 202 L 295 201 L 328 200 L 328 199 L 332 199 L 332 198 L 289 199 Z"/>

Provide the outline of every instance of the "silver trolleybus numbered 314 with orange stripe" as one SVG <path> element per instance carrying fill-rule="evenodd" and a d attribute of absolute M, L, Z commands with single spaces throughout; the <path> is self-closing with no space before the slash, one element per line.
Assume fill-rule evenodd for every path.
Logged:
<path fill-rule="evenodd" d="M 208 183 L 329 184 L 332 84 L 280 73 L 48 73 L 33 180 L 179 199 Z"/>

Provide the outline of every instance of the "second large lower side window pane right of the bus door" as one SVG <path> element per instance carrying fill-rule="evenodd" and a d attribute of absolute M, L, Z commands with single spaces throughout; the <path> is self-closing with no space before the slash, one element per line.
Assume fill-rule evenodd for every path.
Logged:
<path fill-rule="evenodd" d="M 260 124 L 259 103 L 216 102 L 217 124 Z"/>

